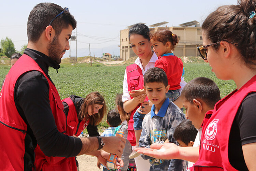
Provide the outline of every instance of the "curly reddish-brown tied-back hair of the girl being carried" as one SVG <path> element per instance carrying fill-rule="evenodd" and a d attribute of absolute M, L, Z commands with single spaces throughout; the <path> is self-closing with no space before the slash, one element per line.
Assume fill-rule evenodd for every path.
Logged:
<path fill-rule="evenodd" d="M 174 46 L 179 42 L 177 35 L 173 34 L 170 30 L 156 31 L 154 34 L 152 34 L 151 39 L 162 42 L 164 45 L 167 42 L 171 42 L 172 49 L 174 49 Z"/>

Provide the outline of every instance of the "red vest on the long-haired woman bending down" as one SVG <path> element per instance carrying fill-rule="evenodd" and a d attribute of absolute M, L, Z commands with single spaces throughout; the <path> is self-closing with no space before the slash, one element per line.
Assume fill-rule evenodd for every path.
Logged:
<path fill-rule="evenodd" d="M 87 127 L 89 124 L 89 120 L 85 121 L 82 120 L 79 123 L 78 120 L 78 114 L 75 108 L 74 102 L 68 97 L 66 99 L 63 99 L 61 102 L 66 102 L 69 106 L 69 112 L 67 113 L 67 124 L 68 126 L 73 130 L 73 135 L 79 136 L 80 133 Z"/>

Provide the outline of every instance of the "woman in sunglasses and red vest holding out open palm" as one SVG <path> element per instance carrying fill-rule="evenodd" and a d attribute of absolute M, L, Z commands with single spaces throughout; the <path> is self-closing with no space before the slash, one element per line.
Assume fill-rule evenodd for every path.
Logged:
<path fill-rule="evenodd" d="M 173 144 L 151 147 L 165 148 L 165 152 L 142 149 L 140 153 L 196 161 L 190 168 L 195 171 L 255 170 L 255 14 L 256 0 L 238 0 L 238 5 L 219 7 L 202 25 L 204 46 L 198 48 L 202 58 L 218 79 L 233 80 L 237 89 L 206 113 L 199 156 L 196 150 L 188 151 Z"/>

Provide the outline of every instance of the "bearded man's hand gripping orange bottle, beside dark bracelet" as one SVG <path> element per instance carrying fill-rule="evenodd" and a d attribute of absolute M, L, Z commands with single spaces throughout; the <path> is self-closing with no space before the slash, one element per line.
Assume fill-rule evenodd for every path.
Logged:
<path fill-rule="evenodd" d="M 123 137 L 101 137 L 105 145 L 103 146 L 103 150 L 116 154 L 118 157 L 121 157 L 123 154 L 123 149 L 125 147 L 125 138 Z"/>

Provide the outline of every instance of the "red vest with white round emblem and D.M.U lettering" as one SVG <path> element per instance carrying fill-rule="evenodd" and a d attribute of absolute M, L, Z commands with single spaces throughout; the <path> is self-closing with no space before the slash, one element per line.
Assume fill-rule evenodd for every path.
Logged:
<path fill-rule="evenodd" d="M 233 120 L 243 99 L 256 91 L 256 75 L 239 90 L 218 101 L 205 115 L 200 143 L 200 157 L 195 171 L 235 171 L 228 160 L 228 140 Z M 235 150 L 235 149 L 234 149 Z"/>

